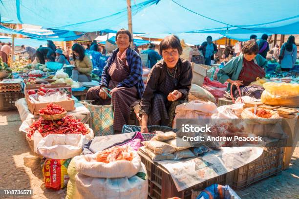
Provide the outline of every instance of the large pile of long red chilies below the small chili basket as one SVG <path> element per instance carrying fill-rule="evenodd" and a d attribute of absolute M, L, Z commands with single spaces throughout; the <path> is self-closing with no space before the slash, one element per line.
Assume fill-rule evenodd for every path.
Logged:
<path fill-rule="evenodd" d="M 87 134 L 87 128 L 80 119 L 75 119 L 72 116 L 65 116 L 63 119 L 51 121 L 40 117 L 34 121 L 29 127 L 27 136 L 31 138 L 35 131 L 39 131 L 41 135 L 46 137 L 49 134 Z"/>

